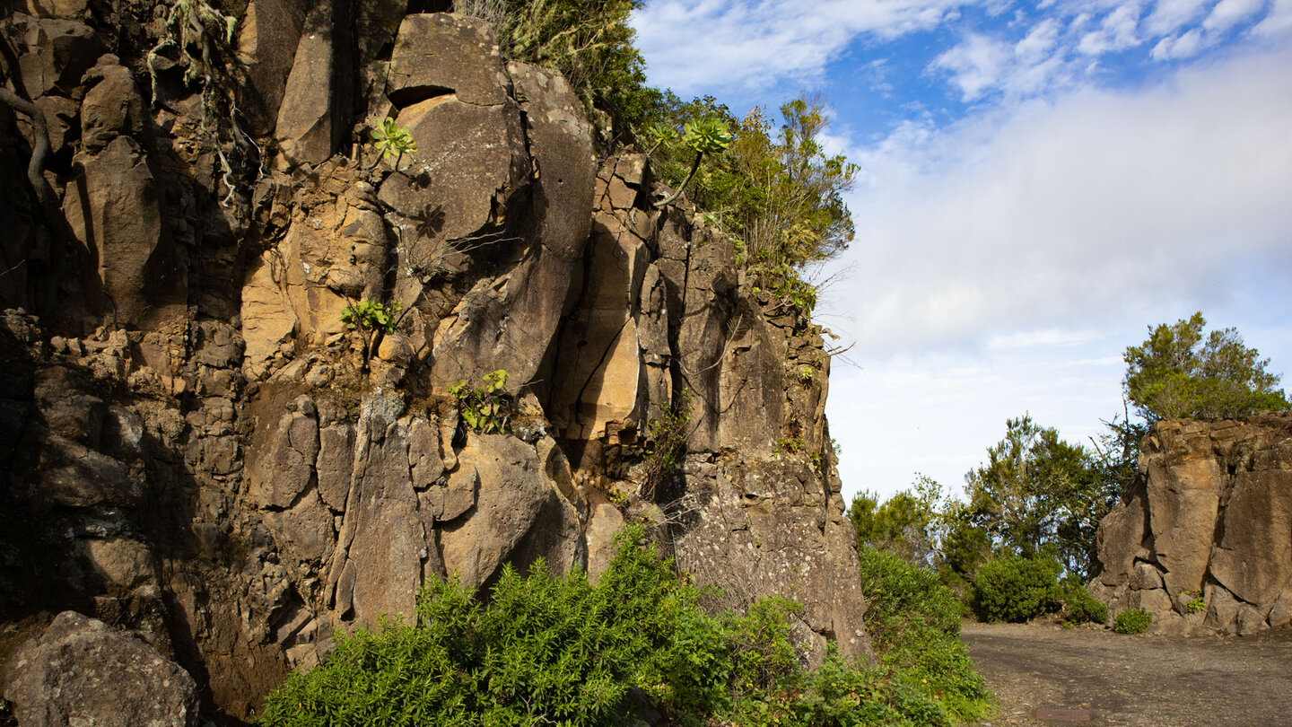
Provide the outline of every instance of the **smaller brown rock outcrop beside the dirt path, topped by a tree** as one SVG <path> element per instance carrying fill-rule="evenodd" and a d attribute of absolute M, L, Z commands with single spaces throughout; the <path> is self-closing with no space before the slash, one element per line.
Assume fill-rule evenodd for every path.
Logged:
<path fill-rule="evenodd" d="M 1159 633 L 1287 626 L 1292 415 L 1158 423 L 1098 546 L 1089 587 L 1110 614 L 1145 608 Z"/>

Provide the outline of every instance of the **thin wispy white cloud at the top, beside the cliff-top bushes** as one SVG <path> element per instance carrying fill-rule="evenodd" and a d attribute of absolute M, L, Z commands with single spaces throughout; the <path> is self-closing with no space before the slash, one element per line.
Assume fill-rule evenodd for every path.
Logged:
<path fill-rule="evenodd" d="M 972 0 L 651 3 L 633 13 L 651 81 L 682 94 L 714 83 L 767 84 L 822 72 L 858 35 L 929 28 Z"/>

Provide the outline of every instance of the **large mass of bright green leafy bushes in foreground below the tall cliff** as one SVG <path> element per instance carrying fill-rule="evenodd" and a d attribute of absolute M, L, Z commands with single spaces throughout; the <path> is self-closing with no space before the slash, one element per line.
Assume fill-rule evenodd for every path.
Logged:
<path fill-rule="evenodd" d="M 619 537 L 596 585 L 581 572 L 554 580 L 539 563 L 526 577 L 508 569 L 482 604 L 457 582 L 435 581 L 419 598 L 416 625 L 339 636 L 327 664 L 267 697 L 258 723 L 610 724 L 627 715 L 634 689 L 693 726 L 926 726 L 947 724 L 948 709 L 964 713 L 935 697 L 957 688 L 937 682 L 944 655 L 922 661 L 903 642 L 908 664 L 863 667 L 832 651 L 808 670 L 791 640 L 796 604 L 707 614 L 699 591 L 640 537 L 633 528 Z M 981 682 L 966 683 L 978 691 L 956 693 L 979 699 Z"/>

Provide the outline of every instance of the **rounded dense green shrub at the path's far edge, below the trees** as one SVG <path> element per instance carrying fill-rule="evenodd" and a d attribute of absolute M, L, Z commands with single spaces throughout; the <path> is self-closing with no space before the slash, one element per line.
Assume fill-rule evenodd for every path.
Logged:
<path fill-rule="evenodd" d="M 973 578 L 973 609 L 988 622 L 1023 622 L 1057 608 L 1061 567 L 1053 558 L 1000 556 Z"/>

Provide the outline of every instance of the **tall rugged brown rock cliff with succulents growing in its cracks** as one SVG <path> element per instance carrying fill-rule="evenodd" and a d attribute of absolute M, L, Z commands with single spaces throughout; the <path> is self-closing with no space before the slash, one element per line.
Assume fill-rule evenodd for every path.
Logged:
<path fill-rule="evenodd" d="M 0 105 L 0 647 L 87 614 L 54 624 L 191 675 L 168 714 L 239 723 L 429 578 L 596 576 L 645 521 L 714 605 L 786 595 L 809 658 L 870 652 L 824 331 L 655 208 L 645 157 L 598 159 L 561 76 L 479 21 L 344 0 L 238 4 L 233 70 L 194 75 L 154 5 L 0 21 L 57 194 Z M 386 116 L 416 151 L 377 159 Z M 360 300 L 393 330 L 349 329 Z M 499 370 L 473 428 L 450 389 Z"/>

